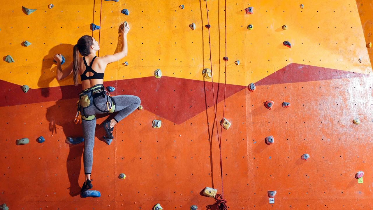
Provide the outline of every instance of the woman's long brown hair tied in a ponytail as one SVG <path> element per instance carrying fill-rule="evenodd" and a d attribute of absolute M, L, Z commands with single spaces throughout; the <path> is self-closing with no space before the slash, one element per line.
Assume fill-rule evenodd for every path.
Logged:
<path fill-rule="evenodd" d="M 93 37 L 84 35 L 79 38 L 78 43 L 74 45 L 73 49 L 73 64 L 72 69 L 74 72 L 74 84 L 78 85 L 78 72 L 79 72 L 79 53 L 82 56 L 87 56 L 91 53 L 90 47 L 93 45 Z"/>

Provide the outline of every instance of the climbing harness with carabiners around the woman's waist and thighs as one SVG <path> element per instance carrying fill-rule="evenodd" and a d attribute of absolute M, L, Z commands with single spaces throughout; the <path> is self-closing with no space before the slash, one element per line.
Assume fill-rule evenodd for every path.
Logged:
<path fill-rule="evenodd" d="M 106 97 L 106 110 L 101 110 L 97 107 L 97 105 L 94 102 L 95 98 L 98 97 Z M 112 103 L 110 103 L 109 98 L 112 99 Z M 109 112 L 112 113 L 115 110 L 115 101 L 110 96 L 110 93 L 107 92 L 102 84 L 96 84 L 95 86 L 85 89 L 81 93 L 79 93 L 79 100 L 76 102 L 76 115 L 74 123 L 82 123 L 83 120 L 93 120 L 96 115 L 87 115 L 85 113 L 85 109 L 94 105 L 96 109 L 98 109 L 101 112 Z"/>

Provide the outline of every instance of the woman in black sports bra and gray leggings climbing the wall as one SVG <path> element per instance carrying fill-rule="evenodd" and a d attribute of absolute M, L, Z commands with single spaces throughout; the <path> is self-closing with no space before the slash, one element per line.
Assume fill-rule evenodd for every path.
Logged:
<path fill-rule="evenodd" d="M 75 123 L 77 121 L 82 123 L 84 133 L 85 182 L 81 192 L 92 188 L 91 170 L 96 127 L 95 114 L 118 112 L 114 118 L 103 123 L 107 139 L 113 139 L 113 127 L 140 106 L 141 100 L 138 96 L 120 95 L 111 97 L 103 86 L 106 65 L 127 56 L 127 33 L 129 29 L 126 22 L 120 27 L 119 33 L 123 34 L 123 48 L 121 52 L 113 55 L 97 57 L 96 52 L 100 50 L 100 47 L 98 42 L 89 35 L 79 38 L 73 49 L 73 62 L 65 70 L 61 68 L 61 55 L 54 55 L 54 60 L 57 61 L 57 80 L 62 80 L 73 72 L 75 86 L 79 84 L 78 74 L 82 82 L 83 91 L 79 93 L 78 111 L 75 119 Z M 80 57 L 79 53 L 83 57 Z"/>

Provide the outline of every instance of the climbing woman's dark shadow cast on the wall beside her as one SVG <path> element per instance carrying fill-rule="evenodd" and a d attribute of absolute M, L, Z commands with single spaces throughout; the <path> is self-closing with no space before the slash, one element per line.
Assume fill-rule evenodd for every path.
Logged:
<path fill-rule="evenodd" d="M 119 46 L 119 44 L 118 44 Z M 118 47 L 117 47 L 118 49 Z M 117 50 L 116 50 L 117 51 Z M 72 62 L 72 44 L 59 44 L 48 52 L 48 55 L 44 56 L 41 76 L 38 80 L 38 87 L 42 88 L 41 97 L 52 98 L 53 101 L 56 92 L 62 93 L 62 97 L 56 101 L 56 104 L 47 108 L 46 119 L 49 121 L 49 130 L 51 134 L 59 134 L 63 132 L 64 139 L 59 139 L 59 142 L 64 142 L 66 137 L 79 137 L 83 136 L 81 124 L 75 124 L 74 119 L 76 115 L 76 102 L 79 99 L 78 94 L 82 91 L 82 86 L 74 86 L 71 84 L 73 81 L 73 74 L 70 74 L 63 80 L 58 81 L 59 86 L 50 87 L 50 83 L 56 78 L 57 65 L 53 62 L 53 56 L 56 53 L 62 54 L 65 57 L 65 63 L 62 65 L 62 69 L 65 69 Z M 53 89 L 53 90 L 52 90 Z M 59 92 L 60 91 L 60 92 Z M 72 98 L 72 94 L 76 95 L 75 99 Z M 97 118 L 112 117 L 112 114 L 96 115 Z M 105 131 L 102 126 L 100 129 L 96 129 L 95 136 L 105 142 L 103 136 Z M 60 135 L 60 134 L 59 134 Z M 67 144 L 67 143 L 66 143 Z M 76 145 L 67 144 L 69 146 L 69 155 L 66 160 L 66 169 L 70 181 L 69 195 L 76 196 L 80 194 L 81 187 L 78 183 L 78 178 L 81 171 L 81 158 L 84 149 L 84 143 Z"/>

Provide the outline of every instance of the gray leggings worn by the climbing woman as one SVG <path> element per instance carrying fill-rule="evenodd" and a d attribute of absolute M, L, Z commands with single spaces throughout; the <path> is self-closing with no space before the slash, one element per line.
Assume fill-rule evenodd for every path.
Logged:
<path fill-rule="evenodd" d="M 115 102 L 115 112 L 118 112 L 114 119 L 119 122 L 123 118 L 131 114 L 140 106 L 141 100 L 138 96 L 120 95 L 112 97 Z M 107 97 L 94 99 L 94 105 L 85 108 L 85 115 L 95 115 L 107 113 Z M 112 100 L 109 98 L 109 102 Z M 98 109 L 97 109 L 98 108 Z M 103 112 L 104 111 L 104 112 Z M 84 173 L 91 174 L 93 164 L 93 146 L 94 146 L 94 132 L 96 128 L 96 117 L 93 120 L 82 120 L 82 127 L 84 133 Z"/>

